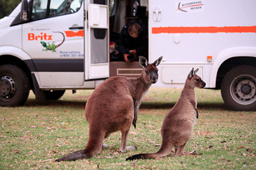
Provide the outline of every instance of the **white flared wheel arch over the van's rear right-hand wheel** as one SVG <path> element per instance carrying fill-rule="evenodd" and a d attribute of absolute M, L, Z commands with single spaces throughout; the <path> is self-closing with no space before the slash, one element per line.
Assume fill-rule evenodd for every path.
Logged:
<path fill-rule="evenodd" d="M 210 88 L 219 90 L 223 77 L 236 66 L 249 65 L 256 67 L 256 48 L 240 47 L 221 52 L 212 66 Z"/>

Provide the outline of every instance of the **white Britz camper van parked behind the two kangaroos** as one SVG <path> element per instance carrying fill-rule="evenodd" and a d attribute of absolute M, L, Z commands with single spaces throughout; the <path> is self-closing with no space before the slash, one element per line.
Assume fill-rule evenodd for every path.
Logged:
<path fill-rule="evenodd" d="M 138 8 L 140 6 L 141 8 Z M 23 0 L 0 20 L 0 106 L 59 99 L 137 62 L 109 62 L 109 42 L 130 21 L 149 30 L 149 62 L 164 56 L 154 87 L 180 88 L 192 67 L 233 110 L 256 110 L 255 0 Z"/>

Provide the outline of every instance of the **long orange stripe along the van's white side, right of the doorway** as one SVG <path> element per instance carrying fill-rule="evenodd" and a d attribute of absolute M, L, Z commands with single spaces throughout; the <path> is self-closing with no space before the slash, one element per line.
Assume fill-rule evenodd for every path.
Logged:
<path fill-rule="evenodd" d="M 256 26 L 249 27 L 153 27 L 152 34 L 161 33 L 256 33 Z"/>

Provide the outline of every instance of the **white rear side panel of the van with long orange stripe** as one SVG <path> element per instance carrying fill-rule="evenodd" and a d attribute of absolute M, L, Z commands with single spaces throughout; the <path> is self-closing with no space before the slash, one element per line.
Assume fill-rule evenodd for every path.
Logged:
<path fill-rule="evenodd" d="M 160 0 L 149 1 L 149 6 L 150 60 L 164 56 L 162 81 L 156 86 L 184 84 L 186 79 L 182 84 L 167 81 L 174 71 L 167 67 L 199 66 L 206 88 L 215 88 L 221 62 L 236 56 L 255 57 L 256 1 L 168 1 L 167 5 Z M 223 56 L 229 49 L 233 53 Z"/>

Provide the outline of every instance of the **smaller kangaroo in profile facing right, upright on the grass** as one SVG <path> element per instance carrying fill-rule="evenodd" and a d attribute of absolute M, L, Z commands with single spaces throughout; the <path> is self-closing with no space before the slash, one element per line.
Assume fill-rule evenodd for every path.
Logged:
<path fill-rule="evenodd" d="M 196 75 L 198 69 L 190 71 L 184 89 L 177 103 L 167 115 L 162 125 L 162 145 L 158 152 L 151 154 L 136 154 L 126 160 L 164 157 L 175 147 L 175 156 L 196 154 L 183 152 L 184 147 L 192 135 L 193 126 L 198 118 L 197 101 L 194 88 L 204 88 L 205 82 Z"/>

